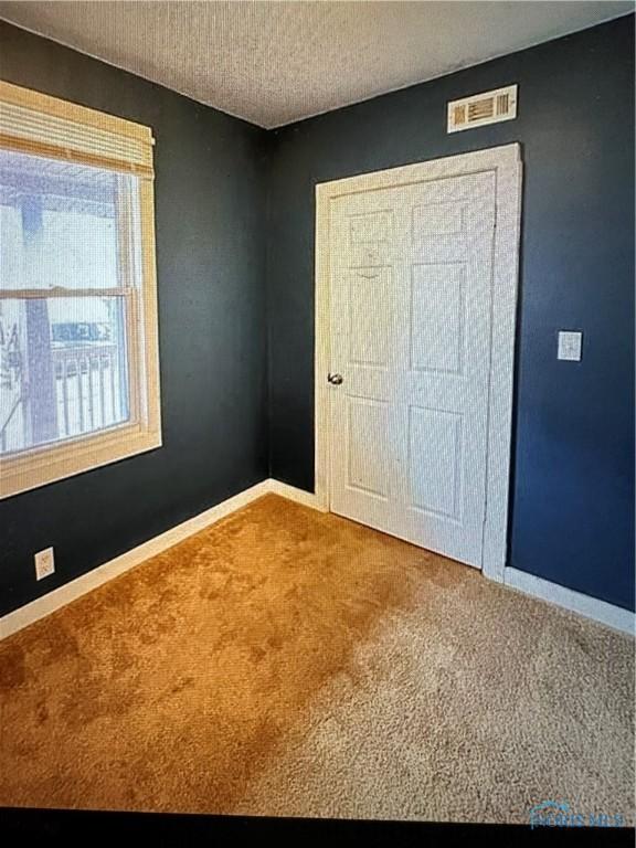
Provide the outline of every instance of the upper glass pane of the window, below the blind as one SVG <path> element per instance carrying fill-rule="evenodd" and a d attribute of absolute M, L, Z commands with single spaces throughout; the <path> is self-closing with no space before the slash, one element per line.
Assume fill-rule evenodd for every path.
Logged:
<path fill-rule="evenodd" d="M 117 204 L 136 188 L 134 177 L 0 150 L 0 289 L 124 286 Z"/>

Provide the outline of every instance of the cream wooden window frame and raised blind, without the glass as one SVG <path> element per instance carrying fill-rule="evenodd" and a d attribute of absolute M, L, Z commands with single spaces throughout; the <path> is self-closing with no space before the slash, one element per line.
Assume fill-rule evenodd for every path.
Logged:
<path fill-rule="evenodd" d="M 72 130 L 77 128 L 81 138 L 88 139 L 86 149 L 73 149 L 40 139 L 7 135 L 2 131 L 1 121 L 1 110 L 6 104 L 35 112 L 44 131 L 47 117 L 51 117 L 52 121 L 62 119 Z M 106 137 L 112 140 L 112 145 L 106 145 L 105 155 L 100 156 L 99 144 L 103 144 Z M 139 161 L 132 161 L 132 157 L 129 159 L 126 156 L 127 145 L 141 150 L 141 165 Z M 105 430 L 64 437 L 14 454 L 0 455 L 0 499 L 153 451 L 162 445 L 152 145 L 153 138 L 149 127 L 0 81 L 0 148 L 82 162 L 120 173 L 132 173 L 138 178 L 140 259 L 137 282 L 134 276 L 131 251 L 126 248 L 126 242 L 132 232 L 131 195 L 127 193 L 127 197 L 119 201 L 123 205 L 119 206 L 118 203 L 117 206 L 120 243 L 125 245 L 118 257 L 123 263 L 124 287 L 105 289 L 100 294 L 109 292 L 114 296 L 125 298 L 128 420 Z M 118 158 L 119 150 L 121 156 Z M 11 290 L 6 297 L 15 299 L 25 292 L 28 290 Z M 43 299 L 73 297 L 77 296 L 77 289 L 38 289 L 28 294 Z"/>

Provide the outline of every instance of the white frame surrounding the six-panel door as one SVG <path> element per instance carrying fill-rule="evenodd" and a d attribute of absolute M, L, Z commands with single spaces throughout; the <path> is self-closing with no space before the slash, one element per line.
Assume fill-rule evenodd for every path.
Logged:
<path fill-rule="evenodd" d="M 512 380 L 522 163 L 519 144 L 433 159 L 316 186 L 316 347 L 315 347 L 315 492 L 329 509 L 329 223 L 331 201 L 344 194 L 390 189 L 414 182 L 494 172 L 496 229 L 492 264 L 491 358 L 488 398 L 486 520 L 481 571 L 504 582 L 508 537 Z"/>

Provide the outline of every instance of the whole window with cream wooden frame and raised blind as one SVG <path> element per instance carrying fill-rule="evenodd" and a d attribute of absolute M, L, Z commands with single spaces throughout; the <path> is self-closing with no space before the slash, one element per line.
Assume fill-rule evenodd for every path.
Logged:
<path fill-rule="evenodd" d="M 0 83 L 0 497 L 161 445 L 148 127 Z"/>

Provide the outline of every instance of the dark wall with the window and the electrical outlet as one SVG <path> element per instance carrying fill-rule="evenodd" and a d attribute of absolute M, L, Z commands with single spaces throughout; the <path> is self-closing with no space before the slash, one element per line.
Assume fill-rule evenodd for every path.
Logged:
<path fill-rule="evenodd" d="M 1 22 L 0 77 L 152 127 L 163 420 L 163 447 L 0 501 L 1 615 L 267 477 L 268 434 L 265 134 Z"/>

